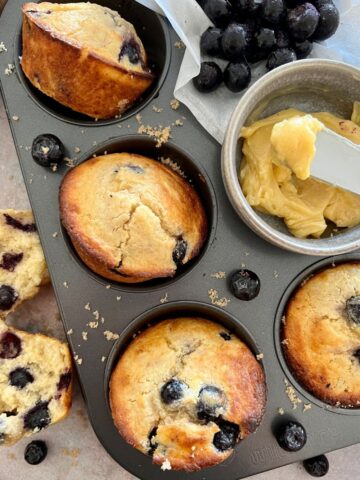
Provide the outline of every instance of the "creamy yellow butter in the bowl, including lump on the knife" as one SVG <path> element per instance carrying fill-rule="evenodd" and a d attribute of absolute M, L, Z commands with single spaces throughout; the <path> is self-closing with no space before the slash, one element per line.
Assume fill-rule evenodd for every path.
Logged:
<path fill-rule="evenodd" d="M 353 121 L 292 108 L 244 127 L 240 134 L 244 144 L 239 178 L 247 201 L 283 218 L 299 238 L 320 237 L 327 221 L 338 227 L 360 223 L 360 196 L 309 176 L 322 125 L 360 144 L 360 127 Z M 341 168 L 341 159 L 336 161 Z"/>

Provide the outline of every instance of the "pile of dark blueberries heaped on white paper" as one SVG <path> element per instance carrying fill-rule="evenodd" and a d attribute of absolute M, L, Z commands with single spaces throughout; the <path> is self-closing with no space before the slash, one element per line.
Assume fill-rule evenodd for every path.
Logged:
<path fill-rule="evenodd" d="M 331 37 L 339 25 L 332 0 L 197 0 L 214 23 L 201 36 L 203 55 L 228 60 L 202 62 L 194 78 L 200 92 L 212 92 L 224 81 L 240 92 L 251 80 L 249 64 L 265 60 L 268 70 L 307 57 L 314 40 Z"/>

